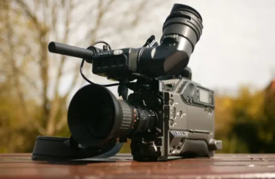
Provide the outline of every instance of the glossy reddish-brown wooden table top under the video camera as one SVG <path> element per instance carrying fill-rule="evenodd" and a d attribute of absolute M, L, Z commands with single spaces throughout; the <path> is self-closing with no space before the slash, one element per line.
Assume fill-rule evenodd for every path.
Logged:
<path fill-rule="evenodd" d="M 275 178 L 275 154 L 216 154 L 167 162 L 135 162 L 129 154 L 102 160 L 32 161 L 0 155 L 0 178 Z"/>

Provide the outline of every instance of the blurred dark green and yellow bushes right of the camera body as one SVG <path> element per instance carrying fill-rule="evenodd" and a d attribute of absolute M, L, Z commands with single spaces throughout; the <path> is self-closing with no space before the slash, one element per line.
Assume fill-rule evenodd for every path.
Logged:
<path fill-rule="evenodd" d="M 249 89 L 241 87 L 238 95 L 230 99 L 227 113 L 232 120 L 216 133 L 216 138 L 223 140 L 223 153 L 275 152 L 275 94 L 270 94 L 268 88 L 257 92 L 250 92 Z M 221 107 L 223 103 L 216 105 Z M 219 119 L 221 116 L 223 114 L 218 111 L 219 123 L 224 122 Z"/>

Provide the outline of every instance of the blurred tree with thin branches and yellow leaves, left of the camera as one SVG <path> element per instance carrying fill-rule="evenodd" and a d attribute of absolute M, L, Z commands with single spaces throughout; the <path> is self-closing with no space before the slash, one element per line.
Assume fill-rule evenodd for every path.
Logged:
<path fill-rule="evenodd" d="M 3 79 L 0 92 L 5 107 L 1 107 L 0 117 L 8 115 L 7 123 L 2 120 L 0 126 L 6 131 L 1 133 L 1 138 L 13 136 L 2 141 L 5 151 L 31 151 L 35 136 L 39 134 L 69 134 L 67 102 L 85 83 L 78 74 L 80 62 L 50 54 L 48 43 L 58 41 L 80 47 L 99 39 L 114 43 L 118 40 L 116 33 L 131 32 L 140 24 L 144 8 L 151 4 L 152 1 L 134 1 L 122 6 L 118 0 L 1 1 L 0 41 L 4 45 L 0 50 L 0 77 Z M 118 6 L 120 9 L 115 8 Z M 119 42 L 120 45 L 125 43 Z M 98 80 L 91 74 L 89 77 Z M 14 141 L 19 136 L 20 142 Z M 30 140 L 30 145 L 20 150 L 18 146 Z M 13 141 L 14 147 L 7 147 Z"/>

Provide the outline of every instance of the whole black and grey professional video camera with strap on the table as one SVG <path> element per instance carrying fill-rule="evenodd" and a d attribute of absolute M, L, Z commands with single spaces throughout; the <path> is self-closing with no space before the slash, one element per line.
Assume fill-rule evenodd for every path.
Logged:
<path fill-rule="evenodd" d="M 222 141 L 214 139 L 214 91 L 192 81 L 187 67 L 202 29 L 197 10 L 174 4 L 160 43 L 151 36 L 142 48 L 111 50 L 104 41 L 87 49 L 51 42 L 50 52 L 83 59 L 80 74 L 90 84 L 69 103 L 71 138 L 37 137 L 32 158 L 108 158 L 128 139 L 137 161 L 214 156 L 222 148 Z M 105 45 L 100 49 L 97 43 Z M 82 72 L 85 61 L 94 74 L 118 83 L 89 81 Z M 113 85 L 123 100 L 107 89 Z M 128 96 L 128 89 L 133 94 Z"/>

